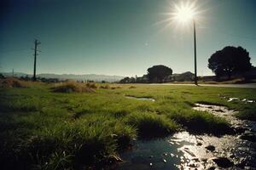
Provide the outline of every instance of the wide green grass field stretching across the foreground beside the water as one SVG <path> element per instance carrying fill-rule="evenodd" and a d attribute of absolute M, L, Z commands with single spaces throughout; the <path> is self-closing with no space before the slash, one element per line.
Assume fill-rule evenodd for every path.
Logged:
<path fill-rule="evenodd" d="M 0 166 L 35 169 L 95 167 L 116 161 L 132 139 L 161 137 L 183 129 L 230 133 L 230 124 L 195 103 L 226 105 L 255 121 L 250 88 L 97 84 L 85 93 L 56 93 L 55 84 L 0 88 Z M 65 91 L 66 92 L 66 91 Z M 127 99 L 127 96 L 155 99 Z"/>

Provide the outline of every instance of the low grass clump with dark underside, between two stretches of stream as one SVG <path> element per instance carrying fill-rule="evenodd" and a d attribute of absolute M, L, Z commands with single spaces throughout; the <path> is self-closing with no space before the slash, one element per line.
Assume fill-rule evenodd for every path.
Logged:
<path fill-rule="evenodd" d="M 169 117 L 182 124 L 192 133 L 233 133 L 230 124 L 224 118 L 213 116 L 207 112 L 184 110 L 172 113 Z"/>

